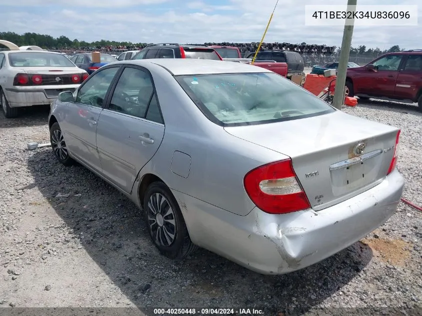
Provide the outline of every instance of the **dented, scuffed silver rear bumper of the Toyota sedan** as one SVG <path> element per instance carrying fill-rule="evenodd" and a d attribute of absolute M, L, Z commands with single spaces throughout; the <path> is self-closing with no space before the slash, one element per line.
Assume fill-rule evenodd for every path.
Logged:
<path fill-rule="evenodd" d="M 261 274 L 285 274 L 318 263 L 384 224 L 397 210 L 404 179 L 396 170 L 376 187 L 335 206 L 239 216 L 173 191 L 192 241 Z"/>

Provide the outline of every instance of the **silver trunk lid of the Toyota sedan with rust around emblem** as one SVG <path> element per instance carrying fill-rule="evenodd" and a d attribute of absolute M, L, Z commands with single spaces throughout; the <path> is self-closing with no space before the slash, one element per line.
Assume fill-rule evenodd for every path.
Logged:
<path fill-rule="evenodd" d="M 388 173 L 399 131 L 341 111 L 225 130 L 291 157 L 296 175 L 316 211 L 379 184 Z M 359 144 L 365 144 L 360 155 L 356 151 Z"/>

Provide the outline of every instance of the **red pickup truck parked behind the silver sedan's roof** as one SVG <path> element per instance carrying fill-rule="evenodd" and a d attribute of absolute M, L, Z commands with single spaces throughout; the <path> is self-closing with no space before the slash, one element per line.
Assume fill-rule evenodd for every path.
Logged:
<path fill-rule="evenodd" d="M 250 59 L 242 58 L 240 50 L 237 47 L 233 46 L 209 46 L 214 48 L 218 54 L 226 61 L 236 61 L 236 62 L 245 62 L 250 63 Z M 268 70 L 271 70 L 283 77 L 287 76 L 287 63 L 285 62 L 275 62 L 274 60 L 259 60 L 254 62 L 255 66 L 262 67 Z"/>

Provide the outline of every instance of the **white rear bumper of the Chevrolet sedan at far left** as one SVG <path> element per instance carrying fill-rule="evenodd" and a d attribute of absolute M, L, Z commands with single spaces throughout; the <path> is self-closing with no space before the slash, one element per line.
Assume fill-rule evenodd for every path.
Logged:
<path fill-rule="evenodd" d="M 10 107 L 23 107 L 51 104 L 60 92 L 73 93 L 78 87 L 79 84 L 13 87 L 6 88 L 4 94 Z"/>

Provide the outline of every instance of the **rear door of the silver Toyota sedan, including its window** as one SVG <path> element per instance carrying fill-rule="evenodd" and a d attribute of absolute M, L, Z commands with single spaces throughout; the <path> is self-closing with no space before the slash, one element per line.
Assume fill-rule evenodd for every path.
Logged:
<path fill-rule="evenodd" d="M 164 136 L 158 98 L 146 69 L 125 66 L 101 112 L 96 134 L 103 176 L 130 193 Z"/>

